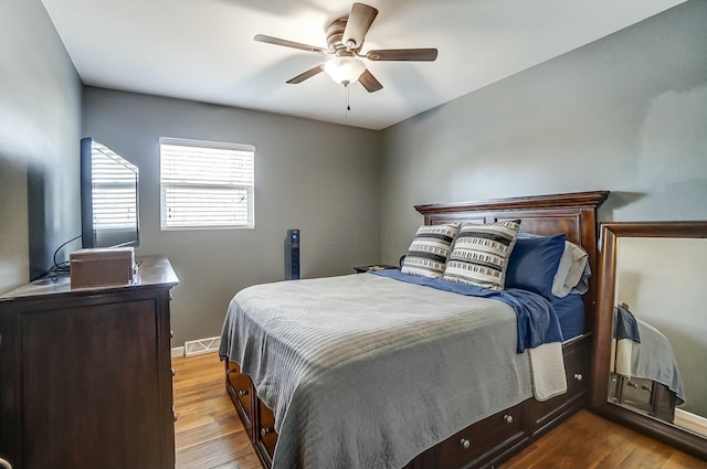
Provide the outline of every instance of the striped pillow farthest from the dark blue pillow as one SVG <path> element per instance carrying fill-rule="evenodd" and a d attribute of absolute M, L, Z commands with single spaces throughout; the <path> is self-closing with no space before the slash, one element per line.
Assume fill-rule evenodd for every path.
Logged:
<path fill-rule="evenodd" d="M 408 249 L 401 271 L 422 277 L 442 278 L 446 257 L 458 232 L 458 223 L 420 226 Z"/>

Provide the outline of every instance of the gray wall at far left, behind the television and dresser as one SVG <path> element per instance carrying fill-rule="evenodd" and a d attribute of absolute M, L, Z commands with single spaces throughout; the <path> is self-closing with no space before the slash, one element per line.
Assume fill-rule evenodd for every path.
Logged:
<path fill-rule="evenodd" d="M 81 233 L 80 128 L 81 82 L 44 6 L 0 1 L 0 292 Z"/>

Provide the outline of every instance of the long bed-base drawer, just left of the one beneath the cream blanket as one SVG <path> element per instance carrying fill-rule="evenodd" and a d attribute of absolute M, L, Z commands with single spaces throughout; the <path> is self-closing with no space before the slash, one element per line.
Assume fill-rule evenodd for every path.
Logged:
<path fill-rule="evenodd" d="M 435 447 L 436 469 L 458 469 L 484 458 L 487 452 L 517 445 L 526 438 L 524 405 L 494 414 L 457 433 Z"/>

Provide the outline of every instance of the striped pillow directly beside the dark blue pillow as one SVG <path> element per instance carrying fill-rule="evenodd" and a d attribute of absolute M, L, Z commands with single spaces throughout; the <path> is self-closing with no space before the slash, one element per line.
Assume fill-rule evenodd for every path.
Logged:
<path fill-rule="evenodd" d="M 462 227 L 446 262 L 443 279 L 503 290 L 508 258 L 520 221 L 467 224 Z"/>

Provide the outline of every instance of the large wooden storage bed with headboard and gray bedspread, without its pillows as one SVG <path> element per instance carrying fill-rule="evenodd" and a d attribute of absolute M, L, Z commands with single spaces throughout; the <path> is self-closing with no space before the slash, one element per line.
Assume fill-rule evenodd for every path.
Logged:
<path fill-rule="evenodd" d="M 415 209 L 425 225 L 518 220 L 524 233 L 563 234 L 595 271 L 595 212 L 606 196 Z M 520 339 L 520 307 L 506 292 L 465 296 L 399 275 L 278 283 L 234 297 L 220 354 L 263 467 L 490 467 L 585 405 L 594 277 L 581 297 L 583 327 L 569 313 L 577 333 L 540 343 Z M 297 349 L 303 341 L 308 349 Z"/>

